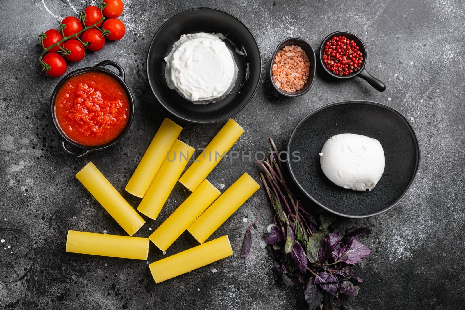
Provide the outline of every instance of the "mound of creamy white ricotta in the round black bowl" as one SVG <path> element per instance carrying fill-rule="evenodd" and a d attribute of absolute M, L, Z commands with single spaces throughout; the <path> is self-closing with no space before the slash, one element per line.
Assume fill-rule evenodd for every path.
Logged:
<path fill-rule="evenodd" d="M 237 79 L 233 53 L 214 34 L 181 35 L 165 61 L 168 87 L 194 103 L 223 99 Z"/>

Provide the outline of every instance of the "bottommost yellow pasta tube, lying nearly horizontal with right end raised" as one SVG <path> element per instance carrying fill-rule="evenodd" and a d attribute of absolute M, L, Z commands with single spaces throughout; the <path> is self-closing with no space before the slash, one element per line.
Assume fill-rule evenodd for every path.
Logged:
<path fill-rule="evenodd" d="M 182 275 L 233 255 L 228 236 L 195 246 L 189 250 L 160 259 L 149 266 L 156 283 Z"/>

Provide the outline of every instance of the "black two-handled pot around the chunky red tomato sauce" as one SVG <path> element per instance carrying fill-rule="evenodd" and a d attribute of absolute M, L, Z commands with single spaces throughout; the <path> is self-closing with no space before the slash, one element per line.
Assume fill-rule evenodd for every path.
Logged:
<path fill-rule="evenodd" d="M 113 66 L 113 67 L 115 67 L 116 69 L 118 69 L 118 74 L 113 73 L 113 71 L 106 69 L 105 66 Z M 110 142 L 108 142 L 106 144 L 103 144 L 103 145 L 85 146 L 85 145 L 80 145 L 79 143 L 69 139 L 68 137 L 66 137 L 66 134 L 61 130 L 60 125 L 58 125 L 58 121 L 57 121 L 57 118 L 56 118 L 56 115 L 55 115 L 55 98 L 56 98 L 58 90 L 63 85 L 63 83 L 66 82 L 67 79 L 69 79 L 69 78 L 71 78 L 71 77 L 73 77 L 75 75 L 78 75 L 80 73 L 94 72 L 94 71 L 100 71 L 100 72 L 106 73 L 106 74 L 110 75 L 113 79 L 117 80 L 120 83 L 120 85 L 124 88 L 124 90 L 126 92 L 126 96 L 127 96 L 127 99 L 128 99 L 128 106 L 129 106 L 129 114 L 128 114 L 128 119 L 127 119 L 127 123 L 126 123 L 125 128 L 120 133 L 120 135 L 118 137 L 116 137 L 116 139 L 114 139 L 113 141 L 110 141 Z M 78 69 L 78 70 L 75 70 L 75 71 L 69 73 L 68 75 L 66 75 L 63 79 L 60 80 L 60 82 L 57 84 L 57 86 L 55 86 L 55 89 L 53 90 L 53 93 L 52 93 L 52 97 L 50 98 L 50 107 L 51 107 L 51 113 L 52 113 L 51 115 L 52 115 L 53 125 L 55 126 L 55 129 L 57 130 L 58 134 L 60 135 L 60 147 L 61 147 L 61 150 L 63 150 L 63 152 L 65 152 L 66 154 L 71 155 L 71 156 L 75 156 L 75 157 L 82 157 L 82 156 L 86 155 L 89 152 L 104 149 L 104 148 L 106 148 L 108 146 L 111 146 L 111 145 L 115 144 L 116 142 L 120 141 L 120 139 L 123 138 L 126 135 L 126 132 L 129 130 L 129 127 L 131 127 L 131 123 L 133 122 L 133 115 L 134 115 L 133 96 L 131 95 L 131 91 L 129 90 L 129 88 L 126 85 L 125 77 L 124 77 L 124 70 L 120 65 L 118 65 L 116 62 L 111 61 L 111 60 L 104 60 L 104 61 L 100 62 L 96 66 Z M 66 147 L 66 143 L 69 144 L 69 145 L 72 145 L 74 148 L 78 149 L 79 152 L 73 152 L 73 151 L 69 150 Z"/>

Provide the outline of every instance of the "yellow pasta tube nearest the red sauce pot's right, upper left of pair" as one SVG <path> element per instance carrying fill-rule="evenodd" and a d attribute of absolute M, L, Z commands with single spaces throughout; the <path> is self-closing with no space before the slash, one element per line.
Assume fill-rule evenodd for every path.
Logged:
<path fill-rule="evenodd" d="M 144 156 L 137 165 L 133 176 L 126 185 L 125 190 L 134 196 L 144 197 L 148 187 L 157 175 L 158 170 L 165 161 L 166 153 L 171 150 L 182 127 L 171 119 L 164 119 L 155 137 L 148 146 Z"/>

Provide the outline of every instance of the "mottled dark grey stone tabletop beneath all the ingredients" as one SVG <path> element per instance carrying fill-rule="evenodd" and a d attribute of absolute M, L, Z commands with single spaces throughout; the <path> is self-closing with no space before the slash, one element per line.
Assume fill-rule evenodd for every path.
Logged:
<path fill-rule="evenodd" d="M 83 9 L 88 1 L 70 0 Z M 60 17 L 73 14 L 69 1 L 46 0 Z M 94 3 L 96 1 L 93 1 Z M 265 151 L 268 136 L 283 147 L 297 122 L 324 104 L 369 99 L 388 104 L 409 119 L 422 151 L 416 181 L 405 198 L 383 215 L 340 219 L 365 225 L 372 254 L 360 265 L 364 278 L 348 309 L 462 309 L 465 302 L 464 244 L 464 15 L 462 0 L 355 1 L 135 1 L 125 0 L 126 36 L 68 66 L 67 72 L 104 59 L 119 62 L 135 99 L 134 123 L 116 146 L 85 158 L 64 155 L 49 115 L 48 98 L 59 79 L 40 73 L 37 34 L 56 26 L 42 1 L 2 1 L 0 10 L 0 307 L 4 309 L 292 309 L 306 308 L 297 289 L 279 287 L 261 239 L 272 220 L 263 190 L 244 204 L 213 237 L 228 234 L 235 254 L 175 279 L 155 284 L 148 262 L 164 257 L 151 245 L 148 262 L 65 252 L 70 229 L 110 234 L 124 231 L 74 178 L 92 160 L 123 192 L 167 112 L 146 81 L 146 52 L 155 31 L 174 13 L 218 7 L 243 20 L 259 42 L 262 81 L 250 104 L 234 117 L 246 132 L 234 150 Z M 376 92 L 365 81 L 330 82 L 317 73 L 310 92 L 286 99 L 269 84 L 272 51 L 289 36 L 317 48 L 335 30 L 357 33 L 369 49 L 366 68 L 386 83 Z M 181 138 L 205 146 L 222 123 L 184 126 Z M 395 134 L 395 132 L 393 132 Z M 209 177 L 219 188 L 243 171 L 258 176 L 252 162 L 222 162 Z M 166 218 L 187 191 L 177 185 L 161 212 Z M 139 199 L 124 193 L 136 206 Z M 313 208 L 313 205 L 309 205 Z M 239 257 L 242 236 L 253 230 L 252 251 Z M 137 236 L 148 236 L 149 221 Z M 194 246 L 184 234 L 166 255 Z M 11 253 L 13 252 L 13 253 Z"/>

